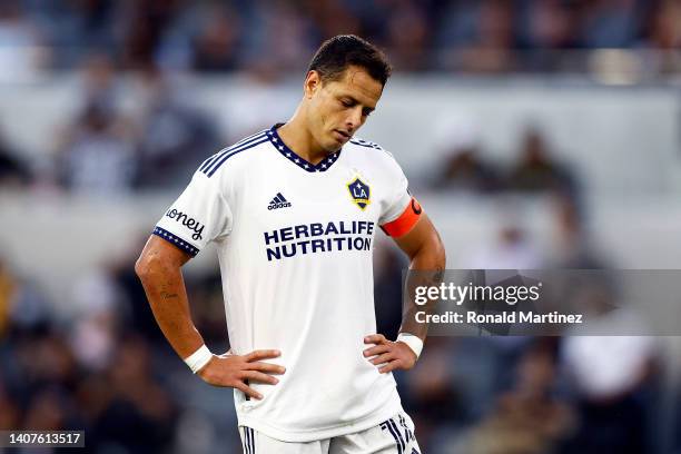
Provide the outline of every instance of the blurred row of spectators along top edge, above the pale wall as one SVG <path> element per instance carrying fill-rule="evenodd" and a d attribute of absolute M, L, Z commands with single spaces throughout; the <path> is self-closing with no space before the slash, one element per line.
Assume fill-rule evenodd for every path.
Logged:
<path fill-rule="evenodd" d="M 297 70 L 339 33 L 378 43 L 398 70 L 570 70 L 552 50 L 678 49 L 680 16 L 678 0 L 4 0 L 0 71 L 90 53 L 126 69 Z"/>

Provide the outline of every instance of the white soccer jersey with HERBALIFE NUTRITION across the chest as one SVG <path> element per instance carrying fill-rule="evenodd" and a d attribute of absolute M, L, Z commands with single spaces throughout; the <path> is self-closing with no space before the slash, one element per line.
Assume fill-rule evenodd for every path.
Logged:
<path fill-rule="evenodd" d="M 363 339 L 376 333 L 376 231 L 421 209 L 377 145 L 352 139 L 315 166 L 278 126 L 206 160 L 154 234 L 191 255 L 217 244 L 233 353 L 276 348 L 273 363 L 286 367 L 277 385 L 251 384 L 261 401 L 235 389 L 239 424 L 306 442 L 401 409 L 392 374 L 363 356 Z"/>

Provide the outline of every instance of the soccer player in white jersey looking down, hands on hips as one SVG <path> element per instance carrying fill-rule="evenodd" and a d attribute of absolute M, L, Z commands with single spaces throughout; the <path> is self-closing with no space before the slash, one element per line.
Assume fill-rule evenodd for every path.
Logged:
<path fill-rule="evenodd" d="M 361 38 L 324 42 L 293 117 L 200 164 L 136 264 L 172 348 L 234 388 L 247 454 L 421 451 L 392 371 L 414 366 L 425 335 L 376 334 L 372 250 L 378 227 L 412 269 L 443 269 L 444 248 L 393 156 L 354 137 L 389 73 Z M 210 241 L 224 355 L 195 328 L 180 272 Z"/>

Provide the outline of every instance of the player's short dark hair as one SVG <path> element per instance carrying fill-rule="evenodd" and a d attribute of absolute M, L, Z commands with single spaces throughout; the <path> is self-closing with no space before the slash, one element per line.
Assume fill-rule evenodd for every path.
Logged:
<path fill-rule="evenodd" d="M 324 41 L 307 71 L 317 71 L 323 81 L 338 80 L 349 66 L 363 68 L 383 86 L 393 71 L 385 53 L 355 34 L 338 34 Z"/>

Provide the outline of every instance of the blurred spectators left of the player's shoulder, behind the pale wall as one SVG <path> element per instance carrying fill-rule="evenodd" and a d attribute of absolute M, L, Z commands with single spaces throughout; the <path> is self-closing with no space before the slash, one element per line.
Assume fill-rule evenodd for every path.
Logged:
<path fill-rule="evenodd" d="M 0 186 L 90 195 L 178 188 L 225 146 L 215 121 L 156 67 L 135 73 L 135 103 L 127 110 L 121 73 L 108 57 L 92 56 L 79 73 L 76 114 L 53 132 L 52 149 L 27 159 L 36 155 L 0 130 Z"/>

